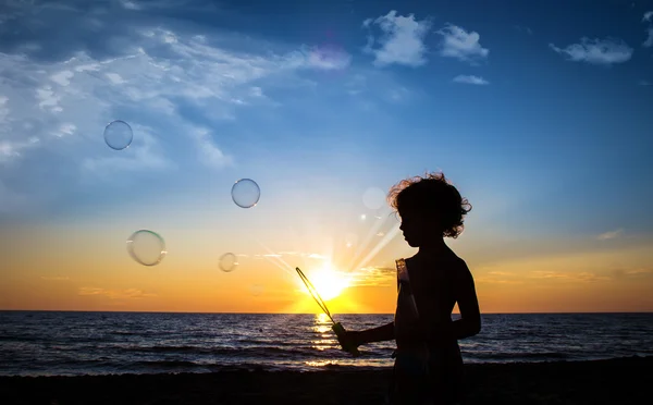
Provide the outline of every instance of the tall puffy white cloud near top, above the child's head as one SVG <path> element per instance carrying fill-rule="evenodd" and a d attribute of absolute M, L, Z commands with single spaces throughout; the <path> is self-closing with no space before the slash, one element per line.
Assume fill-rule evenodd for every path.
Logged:
<path fill-rule="evenodd" d="M 364 52 L 374 56 L 375 66 L 396 63 L 417 68 L 427 63 L 424 38 L 431 27 L 429 20 L 416 21 L 414 14 L 403 16 L 392 10 L 375 20 L 364 21 L 362 26 L 369 29 L 372 24 L 378 25 L 383 34 L 379 39 L 369 35 Z M 379 45 L 377 48 L 374 42 Z"/>

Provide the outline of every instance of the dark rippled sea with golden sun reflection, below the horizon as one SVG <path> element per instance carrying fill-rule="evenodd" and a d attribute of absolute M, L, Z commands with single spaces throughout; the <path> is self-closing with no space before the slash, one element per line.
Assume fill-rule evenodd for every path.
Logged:
<path fill-rule="evenodd" d="M 392 315 L 335 315 L 348 330 Z M 455 318 L 455 316 L 454 316 Z M 461 340 L 466 363 L 653 355 L 653 314 L 483 315 Z M 378 369 L 393 342 L 352 357 L 322 315 L 0 311 L 0 376 Z"/>

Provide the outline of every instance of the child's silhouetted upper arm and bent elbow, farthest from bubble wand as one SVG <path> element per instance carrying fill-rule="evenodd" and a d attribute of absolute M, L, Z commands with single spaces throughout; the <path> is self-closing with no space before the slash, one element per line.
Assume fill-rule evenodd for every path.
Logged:
<path fill-rule="evenodd" d="M 478 334 L 481 331 L 481 311 L 473 285 L 473 277 L 467 265 L 464 265 L 457 278 L 456 300 L 460 310 L 460 319 L 453 322 L 454 336 L 458 340 Z"/>

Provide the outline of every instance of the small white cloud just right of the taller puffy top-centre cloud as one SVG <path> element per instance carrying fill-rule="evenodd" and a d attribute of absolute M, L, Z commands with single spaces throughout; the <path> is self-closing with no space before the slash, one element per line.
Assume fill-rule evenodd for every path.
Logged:
<path fill-rule="evenodd" d="M 481 46 L 481 36 L 477 32 L 468 33 L 457 25 L 447 24 L 438 34 L 442 35 L 440 54 L 443 57 L 476 63 L 490 54 L 490 50 Z"/>

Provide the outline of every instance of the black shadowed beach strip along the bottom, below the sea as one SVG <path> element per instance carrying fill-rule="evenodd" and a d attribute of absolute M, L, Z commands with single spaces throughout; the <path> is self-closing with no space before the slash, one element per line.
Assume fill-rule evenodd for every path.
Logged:
<path fill-rule="evenodd" d="M 469 404 L 645 404 L 653 357 L 467 365 Z M 382 404 L 390 370 L 2 377 L 0 404 Z"/>

